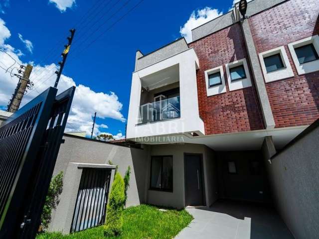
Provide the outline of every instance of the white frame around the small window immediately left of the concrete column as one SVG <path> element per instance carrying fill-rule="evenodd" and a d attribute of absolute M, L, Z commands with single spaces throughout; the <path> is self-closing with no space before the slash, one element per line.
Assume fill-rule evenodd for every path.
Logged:
<path fill-rule="evenodd" d="M 239 80 L 232 82 L 229 69 L 236 67 L 236 66 L 240 66 L 240 65 L 244 66 L 246 78 L 239 79 Z M 227 63 L 225 66 L 226 66 L 227 82 L 228 82 L 229 91 L 235 91 L 235 90 L 251 87 L 250 75 L 249 75 L 249 70 L 248 70 L 246 58 Z"/>

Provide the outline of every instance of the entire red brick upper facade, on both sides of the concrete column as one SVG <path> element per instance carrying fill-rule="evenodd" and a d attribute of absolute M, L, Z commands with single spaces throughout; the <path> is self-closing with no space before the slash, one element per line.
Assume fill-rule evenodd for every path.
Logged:
<path fill-rule="evenodd" d="M 307 125 L 319 118 L 319 72 L 299 76 L 288 43 L 319 34 L 318 0 L 290 0 L 249 19 L 257 53 L 284 45 L 294 77 L 266 84 L 276 127 Z M 191 42 L 199 59 L 199 115 L 206 134 L 263 129 L 256 90 L 229 91 L 225 64 L 247 57 L 240 24 Z M 223 65 L 226 93 L 207 97 L 204 71 Z M 252 84 L 251 69 L 249 69 Z"/>

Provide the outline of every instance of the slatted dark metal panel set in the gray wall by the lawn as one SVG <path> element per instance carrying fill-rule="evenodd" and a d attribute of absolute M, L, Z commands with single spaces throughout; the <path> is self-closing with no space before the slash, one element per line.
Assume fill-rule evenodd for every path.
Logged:
<path fill-rule="evenodd" d="M 111 169 L 84 168 L 70 232 L 104 224 Z"/>

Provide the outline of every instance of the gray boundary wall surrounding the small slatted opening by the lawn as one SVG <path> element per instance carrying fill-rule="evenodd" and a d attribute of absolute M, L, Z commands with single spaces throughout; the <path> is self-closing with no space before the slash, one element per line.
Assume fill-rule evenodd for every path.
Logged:
<path fill-rule="evenodd" d="M 90 140 L 79 136 L 66 135 L 64 144 L 58 154 L 53 175 L 63 171 L 63 191 L 60 203 L 52 213 L 49 231 L 70 231 L 77 192 L 81 179 L 81 166 L 84 164 L 108 164 L 109 160 L 119 166 L 124 176 L 128 166 L 131 167 L 130 188 L 128 189 L 127 207 L 145 202 L 145 172 L 148 159 L 148 147 L 131 148 L 113 143 Z M 96 165 L 99 167 L 99 165 Z M 113 179 L 114 172 L 112 172 Z M 111 180 L 112 181 L 112 180 Z"/>

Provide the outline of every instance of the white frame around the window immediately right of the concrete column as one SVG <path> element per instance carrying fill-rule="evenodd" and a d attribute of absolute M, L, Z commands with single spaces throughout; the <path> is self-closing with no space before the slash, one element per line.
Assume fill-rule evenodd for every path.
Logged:
<path fill-rule="evenodd" d="M 268 56 L 276 55 L 278 53 L 280 54 L 281 60 L 285 68 L 272 71 L 272 72 L 267 72 L 264 58 Z M 294 76 L 294 72 L 290 65 L 284 46 L 280 46 L 280 47 L 271 49 L 269 51 L 259 53 L 258 55 L 259 55 L 261 69 L 263 70 L 263 75 L 264 75 L 266 83 L 272 82 L 272 81 L 278 81 L 278 80 L 282 80 L 282 79 L 286 79 L 286 78 Z"/>

